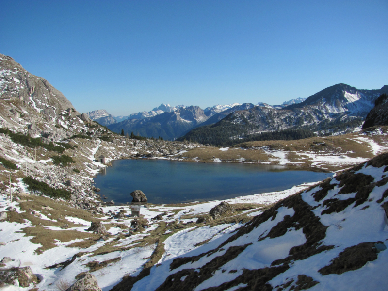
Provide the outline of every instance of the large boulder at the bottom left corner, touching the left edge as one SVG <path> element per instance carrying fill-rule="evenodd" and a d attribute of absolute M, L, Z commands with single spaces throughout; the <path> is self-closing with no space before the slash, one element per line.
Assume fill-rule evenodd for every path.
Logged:
<path fill-rule="evenodd" d="M 37 282 L 38 278 L 32 273 L 30 267 L 0 270 L 0 283 L 28 287 L 30 283 Z"/>

